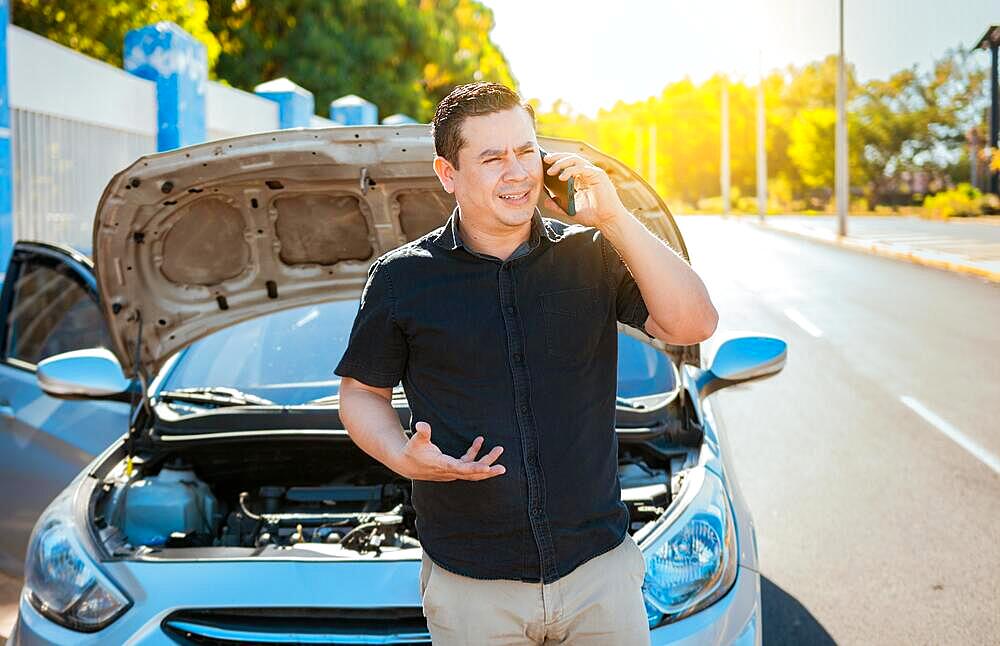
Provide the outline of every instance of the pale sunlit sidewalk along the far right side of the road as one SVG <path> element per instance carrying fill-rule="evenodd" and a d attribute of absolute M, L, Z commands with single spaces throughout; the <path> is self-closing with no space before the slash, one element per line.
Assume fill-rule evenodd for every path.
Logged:
<path fill-rule="evenodd" d="M 855 251 L 905 260 L 1000 283 L 1000 217 L 925 220 L 915 216 L 850 216 L 847 235 L 827 215 L 729 216 Z"/>

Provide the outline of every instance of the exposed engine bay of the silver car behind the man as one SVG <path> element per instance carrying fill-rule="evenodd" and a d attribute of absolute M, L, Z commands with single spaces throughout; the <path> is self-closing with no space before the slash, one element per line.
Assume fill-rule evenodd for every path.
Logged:
<path fill-rule="evenodd" d="M 137 455 L 131 475 L 121 460 L 97 487 L 93 526 L 109 555 L 411 558 L 420 548 L 410 481 L 346 437 L 188 444 Z M 621 445 L 631 532 L 664 514 L 682 463 Z"/>

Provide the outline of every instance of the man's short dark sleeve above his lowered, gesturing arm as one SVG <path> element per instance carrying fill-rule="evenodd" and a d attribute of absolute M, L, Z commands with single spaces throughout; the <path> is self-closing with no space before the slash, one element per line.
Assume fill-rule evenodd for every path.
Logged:
<path fill-rule="evenodd" d="M 395 307 L 388 267 L 379 259 L 368 268 L 368 281 L 361 292 L 347 350 L 334 374 L 376 388 L 399 383 L 406 369 L 408 348 L 396 321 Z"/>

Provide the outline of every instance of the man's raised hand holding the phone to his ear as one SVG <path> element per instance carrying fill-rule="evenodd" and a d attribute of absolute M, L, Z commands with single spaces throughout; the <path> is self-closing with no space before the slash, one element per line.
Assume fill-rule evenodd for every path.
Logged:
<path fill-rule="evenodd" d="M 572 215 L 575 222 L 597 228 L 607 225 L 620 215 L 628 214 L 604 169 L 575 153 L 542 152 L 542 166 L 546 176 L 555 177 L 560 182 L 573 180 L 576 213 L 570 214 L 546 194 L 543 201 L 548 208 Z"/>

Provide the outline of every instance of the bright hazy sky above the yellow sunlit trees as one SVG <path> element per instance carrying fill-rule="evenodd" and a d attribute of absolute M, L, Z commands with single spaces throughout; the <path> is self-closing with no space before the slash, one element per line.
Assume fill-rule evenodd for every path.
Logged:
<path fill-rule="evenodd" d="M 838 0 L 485 0 L 493 41 L 525 98 L 596 115 L 716 72 L 765 73 L 835 54 Z M 971 48 L 1000 24 L 1000 0 L 844 0 L 844 50 L 862 81 L 948 48 Z M 984 64 L 989 54 L 981 51 Z"/>

